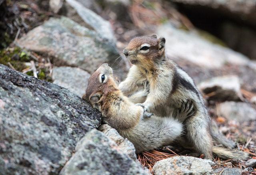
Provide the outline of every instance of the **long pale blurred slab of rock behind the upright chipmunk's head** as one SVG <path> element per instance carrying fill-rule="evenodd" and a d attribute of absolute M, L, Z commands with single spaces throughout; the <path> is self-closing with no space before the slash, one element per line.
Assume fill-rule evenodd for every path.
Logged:
<path fill-rule="evenodd" d="M 226 63 L 252 66 L 246 56 L 213 44 L 196 32 L 187 32 L 171 24 L 164 24 L 158 27 L 157 34 L 165 37 L 166 53 L 170 58 L 187 60 L 204 68 L 221 68 Z"/>

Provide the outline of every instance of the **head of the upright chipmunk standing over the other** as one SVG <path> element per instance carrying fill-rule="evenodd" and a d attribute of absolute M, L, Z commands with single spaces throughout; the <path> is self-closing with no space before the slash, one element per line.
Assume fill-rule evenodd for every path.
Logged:
<path fill-rule="evenodd" d="M 123 50 L 123 54 L 131 64 L 147 64 L 164 56 L 165 38 L 157 38 L 156 34 L 140 36 L 132 39 Z"/>

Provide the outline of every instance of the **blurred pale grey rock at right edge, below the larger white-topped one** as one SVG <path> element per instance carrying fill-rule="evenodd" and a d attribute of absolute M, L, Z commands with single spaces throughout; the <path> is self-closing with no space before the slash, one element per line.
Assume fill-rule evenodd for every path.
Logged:
<path fill-rule="evenodd" d="M 216 107 L 218 115 L 229 120 L 250 121 L 256 119 L 256 110 L 244 102 L 226 101 Z"/>

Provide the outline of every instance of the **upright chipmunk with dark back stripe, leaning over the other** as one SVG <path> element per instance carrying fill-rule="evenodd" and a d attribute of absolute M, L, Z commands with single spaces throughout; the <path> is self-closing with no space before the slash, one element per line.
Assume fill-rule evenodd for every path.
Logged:
<path fill-rule="evenodd" d="M 213 147 L 212 139 L 226 147 L 234 147 L 233 141 L 212 131 L 210 116 L 194 81 L 184 70 L 166 57 L 165 38 L 157 38 L 156 34 L 136 37 L 129 42 L 123 54 L 133 66 L 126 80 L 119 84 L 119 89 L 124 95 L 129 96 L 148 81 L 150 92 L 144 103 L 137 105 L 154 115 L 172 116 L 184 123 L 186 138 L 179 141 L 184 142 L 182 146 L 194 148 L 198 153 L 204 154 L 206 159 L 212 159 L 212 152 L 224 153 L 223 150 L 218 151 L 220 149 Z M 188 115 L 182 113 L 184 108 L 190 109 Z M 245 159 L 248 157 L 248 154 L 243 152 L 234 155 L 236 157 L 231 152 L 228 153 L 226 157 L 230 158 Z"/>

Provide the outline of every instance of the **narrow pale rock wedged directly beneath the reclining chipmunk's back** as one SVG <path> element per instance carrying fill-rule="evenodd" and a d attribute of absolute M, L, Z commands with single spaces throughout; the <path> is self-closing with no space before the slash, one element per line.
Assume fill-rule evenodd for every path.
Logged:
<path fill-rule="evenodd" d="M 110 139 L 112 139 L 117 145 L 117 149 L 122 150 L 123 153 L 128 155 L 131 159 L 134 161 L 137 161 L 136 157 L 136 150 L 132 142 L 130 142 L 128 139 L 122 137 L 116 129 L 112 128 L 108 124 L 101 125 L 98 128 L 100 131 L 105 133 Z"/>

